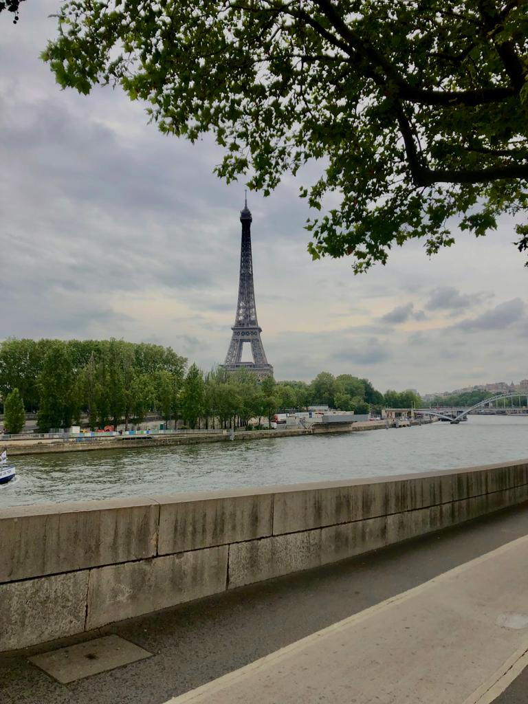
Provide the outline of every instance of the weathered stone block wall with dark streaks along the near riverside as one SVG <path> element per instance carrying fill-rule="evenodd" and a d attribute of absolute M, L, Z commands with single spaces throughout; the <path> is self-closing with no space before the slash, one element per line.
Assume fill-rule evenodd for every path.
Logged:
<path fill-rule="evenodd" d="M 0 510 L 0 650 L 318 567 L 528 499 L 528 460 Z"/>

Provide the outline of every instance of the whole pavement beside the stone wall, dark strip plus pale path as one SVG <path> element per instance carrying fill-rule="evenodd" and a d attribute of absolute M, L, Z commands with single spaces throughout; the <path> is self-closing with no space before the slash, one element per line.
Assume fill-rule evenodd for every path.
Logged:
<path fill-rule="evenodd" d="M 339 702 L 337 695 L 346 691 L 341 681 L 354 686 L 358 677 L 365 690 L 358 695 L 349 689 L 347 704 L 475 704 L 467 696 L 483 684 L 489 689 L 497 679 L 500 686 L 491 690 L 498 696 L 496 704 L 527 704 L 528 670 L 519 674 L 524 661 L 515 658 L 522 653 L 528 629 L 510 627 L 522 625 L 522 614 L 528 612 L 527 543 L 519 541 L 528 536 L 527 508 L 504 510 L 336 565 L 0 655 L 0 702 L 163 704 L 171 698 L 183 702 L 184 696 L 198 702 L 196 696 L 207 693 L 200 691 L 203 685 L 213 681 L 212 691 L 221 693 L 225 684 L 238 679 L 230 682 L 229 673 L 242 672 L 242 684 L 249 666 L 245 672 L 251 677 L 276 668 L 274 677 L 262 680 L 270 686 L 275 676 L 282 677 L 278 670 L 287 667 L 298 678 L 298 692 L 284 677 L 284 688 L 275 699 L 266 699 L 268 690 L 254 684 L 244 694 L 249 698 L 239 700 L 244 704 L 296 701 L 284 697 L 288 691 L 308 704 L 303 687 L 309 679 L 320 690 L 319 698 L 311 701 Z M 499 617 L 502 625 L 496 622 Z M 59 684 L 28 661 L 35 653 L 105 634 L 118 634 L 153 657 L 70 684 Z M 299 675 L 295 660 L 301 651 L 302 657 L 313 660 Z M 332 677 L 325 666 L 320 677 L 313 678 L 312 670 L 329 654 Z M 263 658 L 265 667 L 251 665 L 262 665 Z M 508 658 L 513 681 L 500 694 L 508 684 L 501 679 Z M 369 668 L 370 679 L 365 675 Z M 228 679 L 222 680 L 225 675 Z M 391 693 L 391 682 L 401 689 Z M 418 693 L 422 699 L 416 698 Z M 220 704 L 222 699 L 215 694 L 203 701 Z M 481 698 L 478 704 L 489 700 Z"/>

